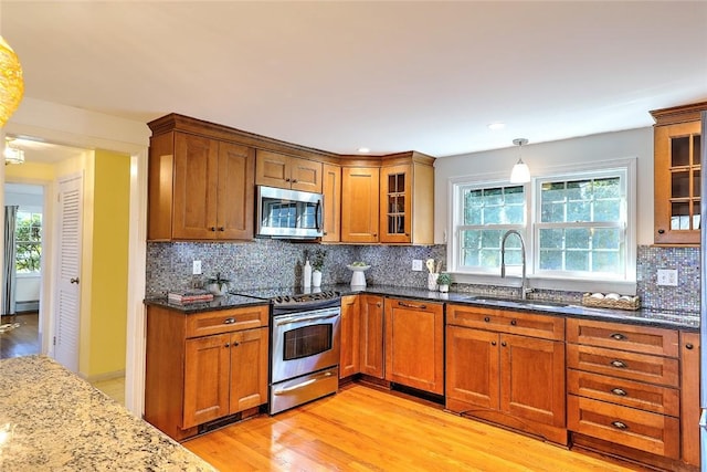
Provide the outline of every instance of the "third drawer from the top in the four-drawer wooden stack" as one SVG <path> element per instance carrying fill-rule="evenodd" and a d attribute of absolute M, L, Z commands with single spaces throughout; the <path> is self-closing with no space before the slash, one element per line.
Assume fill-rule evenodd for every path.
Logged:
<path fill-rule="evenodd" d="M 567 390 L 569 394 L 581 397 L 639 408 L 654 413 L 678 417 L 680 412 L 679 390 L 619 377 L 569 369 Z"/>

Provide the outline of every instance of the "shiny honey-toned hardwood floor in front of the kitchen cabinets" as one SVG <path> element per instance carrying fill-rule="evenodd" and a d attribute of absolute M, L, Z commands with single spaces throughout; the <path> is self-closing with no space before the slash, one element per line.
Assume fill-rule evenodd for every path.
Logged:
<path fill-rule="evenodd" d="M 631 469 L 354 384 L 183 445 L 221 471 L 602 471 Z"/>

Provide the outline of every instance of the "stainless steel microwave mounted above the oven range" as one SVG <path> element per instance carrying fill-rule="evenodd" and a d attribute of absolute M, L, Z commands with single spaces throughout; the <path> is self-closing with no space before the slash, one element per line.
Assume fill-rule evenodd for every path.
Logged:
<path fill-rule="evenodd" d="M 324 234 L 324 196 L 257 186 L 258 237 L 314 239 Z"/>

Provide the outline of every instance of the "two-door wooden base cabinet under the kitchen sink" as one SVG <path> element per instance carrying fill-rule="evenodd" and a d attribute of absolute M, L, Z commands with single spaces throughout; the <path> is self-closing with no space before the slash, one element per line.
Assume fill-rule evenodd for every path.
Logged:
<path fill-rule="evenodd" d="M 564 319 L 447 305 L 446 408 L 568 443 Z"/>

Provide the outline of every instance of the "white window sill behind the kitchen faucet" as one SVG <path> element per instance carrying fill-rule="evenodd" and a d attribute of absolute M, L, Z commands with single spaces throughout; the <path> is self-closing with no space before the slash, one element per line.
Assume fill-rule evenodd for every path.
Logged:
<path fill-rule="evenodd" d="M 502 279 L 500 275 L 452 273 L 452 279 L 456 283 L 495 285 L 504 287 L 519 287 L 520 277 L 509 275 Z M 562 292 L 601 292 L 620 293 L 621 295 L 635 295 L 635 281 L 590 281 L 583 279 L 553 279 L 528 276 L 528 286 L 539 290 L 553 290 Z"/>

